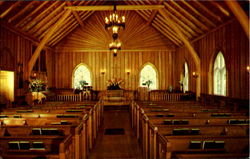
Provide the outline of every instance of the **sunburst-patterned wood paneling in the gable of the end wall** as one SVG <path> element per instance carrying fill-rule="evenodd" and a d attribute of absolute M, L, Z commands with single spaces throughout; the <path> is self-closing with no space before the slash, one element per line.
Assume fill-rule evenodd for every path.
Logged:
<path fill-rule="evenodd" d="M 134 11 L 123 11 L 120 15 L 126 16 L 126 28 L 119 32 L 123 50 L 137 49 L 173 49 L 173 43 L 156 31 L 145 25 L 143 20 Z M 111 32 L 105 30 L 104 19 L 109 12 L 96 12 L 85 27 L 76 29 L 71 35 L 57 46 L 57 50 L 108 50 L 112 41 Z"/>

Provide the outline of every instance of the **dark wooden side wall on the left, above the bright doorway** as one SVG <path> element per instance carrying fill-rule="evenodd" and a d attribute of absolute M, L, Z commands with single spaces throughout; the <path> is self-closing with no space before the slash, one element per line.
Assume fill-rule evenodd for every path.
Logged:
<path fill-rule="evenodd" d="M 28 90 L 28 83 L 25 82 L 25 68 L 32 55 L 32 45 L 36 45 L 34 41 L 0 25 L 0 70 L 15 72 L 15 96 L 22 96 Z M 51 49 L 46 49 L 46 53 L 48 82 L 52 85 L 54 54 Z"/>

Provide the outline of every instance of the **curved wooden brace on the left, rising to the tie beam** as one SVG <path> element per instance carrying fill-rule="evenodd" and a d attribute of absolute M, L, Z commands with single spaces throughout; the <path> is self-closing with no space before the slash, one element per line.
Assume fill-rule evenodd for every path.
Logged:
<path fill-rule="evenodd" d="M 42 39 L 42 41 L 39 43 L 39 45 L 37 46 L 34 54 L 32 55 L 29 64 L 28 64 L 28 73 L 26 76 L 26 79 L 29 78 L 32 68 L 37 60 L 37 58 L 40 55 L 41 50 L 43 49 L 44 45 L 47 43 L 47 41 L 49 40 L 49 38 L 51 37 L 51 35 L 56 31 L 56 29 L 62 24 L 62 22 L 70 15 L 71 10 L 67 10 L 65 11 L 65 13 L 63 14 L 63 16 L 61 17 L 61 19 L 54 24 L 54 26 L 48 31 L 48 33 L 44 36 L 44 38 Z"/>

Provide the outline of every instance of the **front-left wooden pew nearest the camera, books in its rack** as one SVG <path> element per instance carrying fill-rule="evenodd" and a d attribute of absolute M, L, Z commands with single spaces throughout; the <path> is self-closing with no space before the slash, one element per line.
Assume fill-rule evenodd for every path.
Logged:
<path fill-rule="evenodd" d="M 2 156 L 6 159 L 34 158 L 38 156 L 58 159 L 75 157 L 72 135 L 66 137 L 38 136 L 32 138 L 30 136 L 10 136 L 0 137 L 0 140 L 3 150 Z"/>

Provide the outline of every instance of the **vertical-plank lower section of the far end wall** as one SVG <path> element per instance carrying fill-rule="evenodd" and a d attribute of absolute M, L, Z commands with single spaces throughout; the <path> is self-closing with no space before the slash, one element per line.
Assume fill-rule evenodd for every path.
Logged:
<path fill-rule="evenodd" d="M 93 79 L 93 89 L 105 90 L 106 81 L 112 78 L 122 78 L 124 88 L 136 90 L 139 86 L 139 72 L 145 63 L 152 63 L 158 70 L 159 89 L 172 85 L 172 56 L 171 51 L 159 52 L 124 52 L 114 57 L 107 52 L 68 52 L 55 55 L 55 86 L 57 88 L 72 88 L 73 70 L 80 63 L 86 64 Z M 105 74 L 101 74 L 105 71 Z M 127 74 L 130 71 L 130 74 Z"/>

